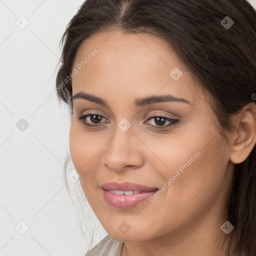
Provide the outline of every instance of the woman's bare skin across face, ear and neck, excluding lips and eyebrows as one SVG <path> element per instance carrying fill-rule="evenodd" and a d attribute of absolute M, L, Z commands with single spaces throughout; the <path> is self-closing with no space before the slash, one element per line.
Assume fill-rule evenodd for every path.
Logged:
<path fill-rule="evenodd" d="M 72 78 L 73 95 L 83 91 L 103 98 L 109 108 L 73 99 L 69 147 L 80 184 L 92 210 L 110 236 L 124 241 L 126 255 L 216 255 L 219 241 L 228 238 L 220 226 L 228 220 L 225 208 L 234 163 L 243 161 L 255 145 L 253 104 L 236 117 L 237 130 L 230 145 L 213 125 L 215 118 L 198 82 L 170 46 L 146 33 L 104 31 L 84 41 L 74 67 L 87 54 L 99 52 Z M 182 76 L 174 80 L 174 67 Z M 188 100 L 136 106 L 146 96 L 172 94 Z M 87 128 L 80 114 L 98 114 L 99 127 Z M 164 129 L 149 114 L 179 119 Z M 126 118 L 131 127 L 118 123 Z M 93 116 L 89 124 L 99 124 Z M 165 120 L 163 125 L 170 122 Z M 130 181 L 161 188 L 180 165 L 197 151 L 201 154 L 155 201 L 130 209 L 110 206 L 100 185 L 107 181 Z M 130 230 L 118 226 L 126 221 Z M 230 235 L 229 235 L 230 237 Z M 224 248 L 218 255 L 228 255 Z"/>

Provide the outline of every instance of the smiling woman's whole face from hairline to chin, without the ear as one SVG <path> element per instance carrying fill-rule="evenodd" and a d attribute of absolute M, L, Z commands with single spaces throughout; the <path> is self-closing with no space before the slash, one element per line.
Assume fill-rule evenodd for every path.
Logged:
<path fill-rule="evenodd" d="M 229 148 L 171 48 L 146 33 L 104 31 L 80 46 L 73 68 L 70 154 L 107 233 L 142 241 L 218 232 Z"/>

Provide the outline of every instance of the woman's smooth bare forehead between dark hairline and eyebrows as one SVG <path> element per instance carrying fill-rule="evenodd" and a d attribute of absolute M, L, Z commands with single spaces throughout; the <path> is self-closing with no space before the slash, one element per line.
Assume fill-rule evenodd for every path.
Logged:
<path fill-rule="evenodd" d="M 168 43 L 151 34 L 120 30 L 93 34 L 80 45 L 73 67 L 77 65 L 80 70 L 76 68 L 78 73 L 72 78 L 73 94 L 87 91 L 114 96 L 125 91 L 134 98 L 171 92 L 190 102 L 196 97 L 189 70 Z M 173 69 L 182 73 L 178 80 L 170 74 Z"/>

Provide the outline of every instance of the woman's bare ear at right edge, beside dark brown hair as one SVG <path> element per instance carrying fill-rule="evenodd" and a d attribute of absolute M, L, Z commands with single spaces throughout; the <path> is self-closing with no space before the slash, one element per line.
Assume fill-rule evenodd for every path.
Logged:
<path fill-rule="evenodd" d="M 230 161 L 243 162 L 256 143 L 256 104 L 249 102 L 236 116 L 236 132 L 230 147 Z"/>

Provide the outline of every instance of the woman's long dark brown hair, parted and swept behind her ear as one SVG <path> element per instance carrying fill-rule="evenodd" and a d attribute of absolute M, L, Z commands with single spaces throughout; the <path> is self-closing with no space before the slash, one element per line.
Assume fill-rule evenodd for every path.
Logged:
<path fill-rule="evenodd" d="M 234 24 L 226 28 L 221 20 Z M 148 33 L 168 42 L 203 90 L 213 99 L 212 110 L 221 134 L 234 131 L 232 116 L 256 92 L 256 11 L 246 0 L 86 0 L 61 37 L 61 65 L 56 75 L 59 102 L 72 112 L 72 72 L 79 46 L 91 35 L 121 29 Z M 226 201 L 229 255 L 256 255 L 256 148 L 235 164 Z"/>

